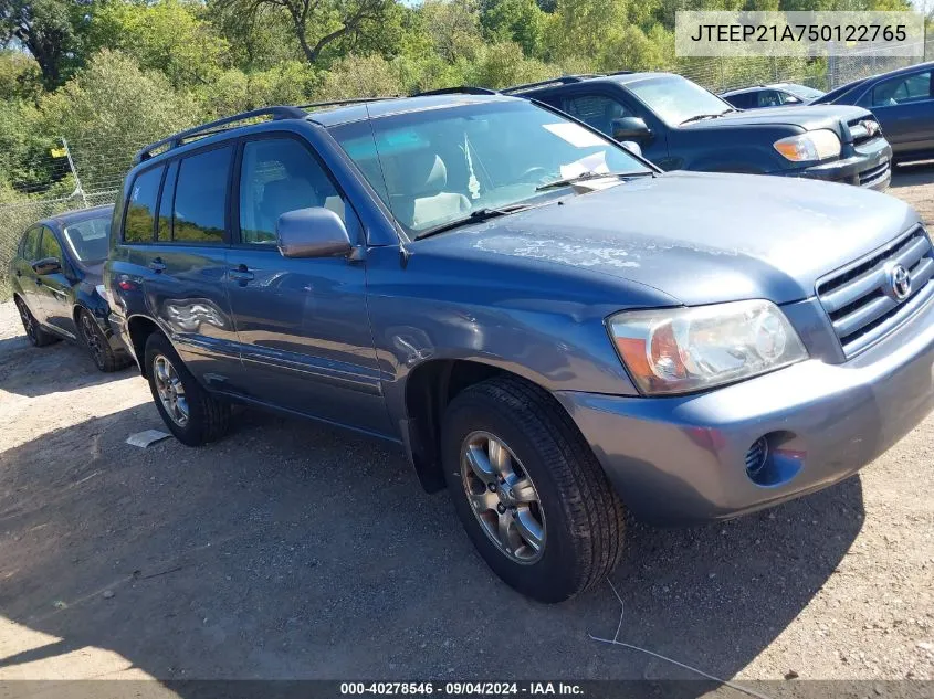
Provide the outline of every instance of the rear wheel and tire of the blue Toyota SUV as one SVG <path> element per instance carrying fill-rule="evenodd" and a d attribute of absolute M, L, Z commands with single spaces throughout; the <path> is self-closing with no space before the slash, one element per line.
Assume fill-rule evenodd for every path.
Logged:
<path fill-rule="evenodd" d="M 230 403 L 201 388 L 171 342 L 160 332 L 154 332 L 146 340 L 145 361 L 156 409 L 176 439 L 188 446 L 201 446 L 227 434 Z M 165 400 L 160 388 L 167 392 Z M 185 420 L 181 420 L 182 415 Z"/>

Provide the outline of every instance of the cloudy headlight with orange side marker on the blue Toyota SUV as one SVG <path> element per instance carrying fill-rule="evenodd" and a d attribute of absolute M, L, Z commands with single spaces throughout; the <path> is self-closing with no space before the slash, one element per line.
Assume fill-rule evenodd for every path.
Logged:
<path fill-rule="evenodd" d="M 609 329 L 646 394 L 701 391 L 808 357 L 785 314 L 765 300 L 623 311 Z"/>

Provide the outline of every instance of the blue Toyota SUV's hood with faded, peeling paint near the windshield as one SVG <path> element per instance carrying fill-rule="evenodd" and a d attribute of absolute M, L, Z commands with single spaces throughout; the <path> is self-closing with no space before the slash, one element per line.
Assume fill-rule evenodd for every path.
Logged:
<path fill-rule="evenodd" d="M 793 178 L 675 171 L 569 197 L 416 243 L 612 275 L 685 305 L 815 294 L 823 275 L 917 222 L 873 191 Z M 556 268 L 552 267 L 552 273 Z"/>

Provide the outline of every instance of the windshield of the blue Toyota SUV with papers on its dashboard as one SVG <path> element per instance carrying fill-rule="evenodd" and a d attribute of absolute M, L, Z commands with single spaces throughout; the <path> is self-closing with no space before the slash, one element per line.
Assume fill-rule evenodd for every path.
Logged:
<path fill-rule="evenodd" d="M 615 141 L 525 100 L 411 112 L 330 133 L 409 233 L 546 202 L 569 184 L 537 188 L 564 178 L 648 170 Z"/>

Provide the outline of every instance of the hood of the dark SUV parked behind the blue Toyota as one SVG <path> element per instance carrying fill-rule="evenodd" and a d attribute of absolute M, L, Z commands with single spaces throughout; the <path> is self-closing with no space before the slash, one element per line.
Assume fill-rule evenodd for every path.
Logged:
<path fill-rule="evenodd" d="M 806 131 L 816 129 L 831 129 L 842 140 L 847 140 L 849 133 L 847 125 L 859 119 L 871 117 L 862 107 L 846 105 L 798 105 L 794 107 L 769 107 L 767 109 L 749 109 L 746 112 L 731 112 L 716 119 L 704 119 L 686 124 L 684 130 L 716 130 L 749 126 L 790 126 Z"/>

